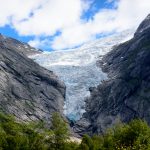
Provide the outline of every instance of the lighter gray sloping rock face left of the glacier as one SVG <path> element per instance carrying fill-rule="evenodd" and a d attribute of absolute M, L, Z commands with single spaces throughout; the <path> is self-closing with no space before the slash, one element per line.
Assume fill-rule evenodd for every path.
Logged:
<path fill-rule="evenodd" d="M 20 44 L 0 36 L 0 110 L 23 121 L 49 121 L 52 112 L 63 111 L 65 85 L 24 55 L 31 50 L 18 50 Z"/>

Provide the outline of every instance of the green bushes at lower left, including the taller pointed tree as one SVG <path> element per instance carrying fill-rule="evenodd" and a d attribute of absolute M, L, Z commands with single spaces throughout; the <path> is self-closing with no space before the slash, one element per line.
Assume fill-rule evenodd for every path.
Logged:
<path fill-rule="evenodd" d="M 52 116 L 52 128 L 45 129 L 41 122 L 16 122 L 14 117 L 0 113 L 0 150 L 63 149 L 68 128 L 58 113 Z"/>

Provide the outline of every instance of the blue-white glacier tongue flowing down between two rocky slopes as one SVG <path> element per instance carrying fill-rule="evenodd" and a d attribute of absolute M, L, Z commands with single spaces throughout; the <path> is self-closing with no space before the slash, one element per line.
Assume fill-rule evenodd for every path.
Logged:
<path fill-rule="evenodd" d="M 54 71 L 66 84 L 64 114 L 78 120 L 85 112 L 85 98 L 89 88 L 96 87 L 107 74 L 98 68 L 96 61 L 109 52 L 112 46 L 129 39 L 134 30 L 124 31 L 107 38 L 96 40 L 80 48 L 45 52 L 30 56 L 41 66 Z"/>

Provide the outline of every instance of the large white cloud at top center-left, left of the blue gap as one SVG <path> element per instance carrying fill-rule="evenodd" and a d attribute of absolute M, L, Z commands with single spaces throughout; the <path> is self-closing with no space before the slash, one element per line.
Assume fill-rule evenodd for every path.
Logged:
<path fill-rule="evenodd" d="M 14 26 L 21 35 L 53 35 L 79 22 L 82 11 L 80 0 L 48 0 L 32 17 Z"/>

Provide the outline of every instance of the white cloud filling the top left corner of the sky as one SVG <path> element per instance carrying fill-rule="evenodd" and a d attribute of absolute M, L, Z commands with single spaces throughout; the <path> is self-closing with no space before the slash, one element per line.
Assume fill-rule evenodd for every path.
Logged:
<path fill-rule="evenodd" d="M 29 18 L 30 13 L 36 10 L 43 0 L 0 0 L 0 3 L 0 26 L 4 26 Z"/>

